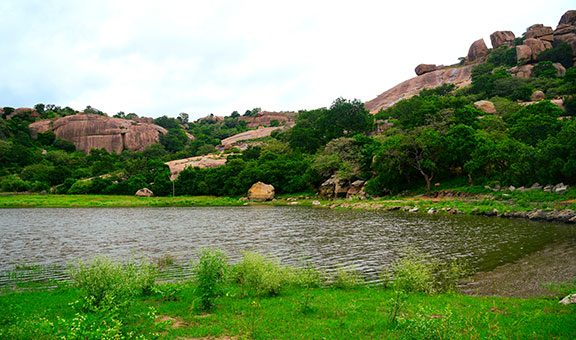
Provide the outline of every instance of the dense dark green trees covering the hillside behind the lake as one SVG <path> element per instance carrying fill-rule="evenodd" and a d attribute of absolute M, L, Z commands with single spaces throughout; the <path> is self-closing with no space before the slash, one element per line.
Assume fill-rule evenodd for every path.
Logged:
<path fill-rule="evenodd" d="M 187 169 L 175 183 L 164 162 L 219 152 L 220 140 L 248 129 L 240 114 L 196 122 L 185 113 L 163 116 L 155 123 L 168 134 L 159 144 L 143 152 L 86 155 L 52 133 L 34 139 L 28 130 L 34 120 L 73 114 L 72 109 L 38 104 L 38 115 L 8 119 L 14 109 L 6 107 L 0 119 L 0 190 L 132 195 L 148 187 L 163 196 L 173 193 L 174 184 L 176 195 L 240 196 L 256 181 L 274 185 L 278 193 L 313 192 L 332 176 L 365 180 L 372 195 L 430 190 L 436 182 L 576 184 L 576 68 L 559 74 L 552 64 L 568 66 L 569 52 L 563 44 L 543 52 L 533 76 L 523 79 L 507 70 L 516 65 L 515 49 L 500 47 L 474 68 L 470 86 L 424 90 L 375 116 L 360 101 L 339 98 L 329 108 L 301 111 L 294 127 L 273 138 L 241 153 L 232 150 L 225 166 Z M 546 100 L 524 105 L 536 90 Z M 554 98 L 563 99 L 564 108 L 549 101 Z M 495 114 L 473 105 L 484 99 L 495 104 Z M 375 126 L 384 131 L 375 133 Z"/>

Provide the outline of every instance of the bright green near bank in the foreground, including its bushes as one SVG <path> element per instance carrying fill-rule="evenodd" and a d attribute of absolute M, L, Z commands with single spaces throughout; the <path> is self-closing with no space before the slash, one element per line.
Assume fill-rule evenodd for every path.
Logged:
<path fill-rule="evenodd" d="M 0 338 L 576 337 L 574 305 L 453 293 L 430 268 L 408 260 L 387 286 L 344 271 L 326 284 L 259 255 L 230 266 L 205 252 L 193 280 L 155 284 L 149 266 L 93 262 L 54 290 L 2 292 Z"/>

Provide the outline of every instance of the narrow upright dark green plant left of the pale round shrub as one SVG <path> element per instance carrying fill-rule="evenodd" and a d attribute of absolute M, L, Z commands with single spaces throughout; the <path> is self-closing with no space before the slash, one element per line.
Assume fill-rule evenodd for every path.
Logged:
<path fill-rule="evenodd" d="M 222 294 L 222 284 L 228 273 L 226 256 L 220 250 L 203 249 L 193 270 L 196 289 L 200 295 L 199 308 L 203 312 L 211 311 L 216 298 Z"/>

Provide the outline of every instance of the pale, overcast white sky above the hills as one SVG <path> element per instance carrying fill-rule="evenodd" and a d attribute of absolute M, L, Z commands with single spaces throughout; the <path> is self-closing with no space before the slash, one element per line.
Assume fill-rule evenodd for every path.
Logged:
<path fill-rule="evenodd" d="M 0 0 L 0 107 L 191 119 L 368 101 L 570 1 Z"/>

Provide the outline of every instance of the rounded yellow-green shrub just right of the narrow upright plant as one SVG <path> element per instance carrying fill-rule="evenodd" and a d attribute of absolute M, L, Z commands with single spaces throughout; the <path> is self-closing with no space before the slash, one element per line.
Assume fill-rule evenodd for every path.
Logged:
<path fill-rule="evenodd" d="M 278 295 L 288 282 L 288 273 L 277 261 L 254 252 L 245 252 L 234 266 L 234 277 L 248 295 Z"/>

